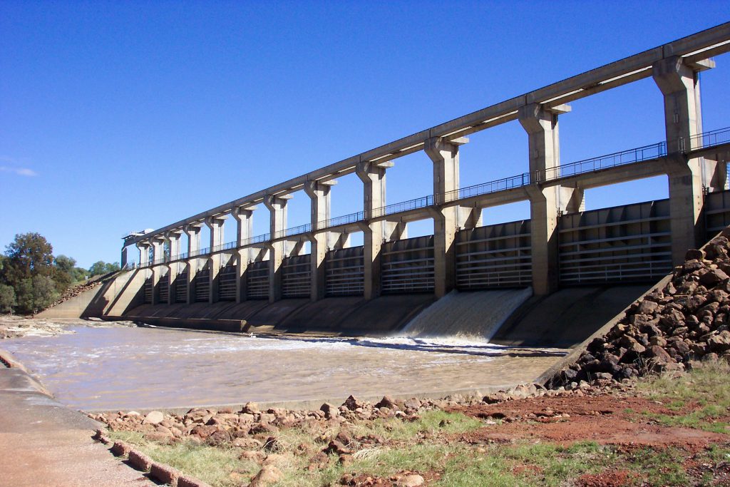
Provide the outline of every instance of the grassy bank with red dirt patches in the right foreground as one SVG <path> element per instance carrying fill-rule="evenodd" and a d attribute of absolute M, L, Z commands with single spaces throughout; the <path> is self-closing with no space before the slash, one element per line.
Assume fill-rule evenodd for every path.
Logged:
<path fill-rule="evenodd" d="M 730 485 L 729 372 L 704 364 L 644 378 L 629 391 L 584 388 L 567 400 L 307 421 L 258 434 L 254 448 L 110 436 L 213 486 L 247 485 L 261 469 L 276 486 Z"/>

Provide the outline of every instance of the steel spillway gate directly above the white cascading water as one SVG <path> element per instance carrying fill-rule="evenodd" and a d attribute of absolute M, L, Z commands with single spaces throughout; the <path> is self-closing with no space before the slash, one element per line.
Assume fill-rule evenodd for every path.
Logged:
<path fill-rule="evenodd" d="M 531 285 L 529 220 L 461 230 L 455 245 L 459 290 Z"/>

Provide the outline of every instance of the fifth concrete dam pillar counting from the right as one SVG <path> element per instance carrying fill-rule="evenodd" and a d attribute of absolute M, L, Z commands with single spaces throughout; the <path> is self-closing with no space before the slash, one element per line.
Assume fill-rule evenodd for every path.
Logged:
<path fill-rule="evenodd" d="M 323 299 L 325 295 L 325 272 L 324 259 L 327 256 L 327 249 L 330 246 L 329 232 L 318 231 L 318 223 L 330 218 L 330 193 L 333 182 L 320 183 L 319 181 L 307 181 L 304 184 L 304 192 L 311 201 L 312 232 L 310 237 L 311 248 L 311 280 L 312 288 L 310 297 L 312 301 Z"/>

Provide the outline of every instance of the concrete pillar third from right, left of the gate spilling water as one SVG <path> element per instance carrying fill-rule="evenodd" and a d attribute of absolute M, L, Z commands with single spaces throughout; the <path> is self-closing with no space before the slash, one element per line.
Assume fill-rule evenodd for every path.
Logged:
<path fill-rule="evenodd" d="M 454 199 L 458 190 L 458 146 L 468 142 L 429 139 L 424 145 L 426 155 L 434 163 L 434 203 L 441 204 Z M 454 239 L 458 227 L 458 207 L 440 207 L 434 216 L 434 294 L 445 296 L 456 286 L 456 245 Z"/>

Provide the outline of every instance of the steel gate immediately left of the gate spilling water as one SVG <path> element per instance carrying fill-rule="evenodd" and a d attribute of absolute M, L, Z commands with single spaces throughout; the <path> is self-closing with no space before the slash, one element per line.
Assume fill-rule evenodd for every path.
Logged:
<path fill-rule="evenodd" d="M 383 244 L 380 250 L 383 294 L 434 292 L 434 236 Z"/>

